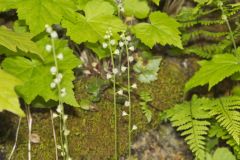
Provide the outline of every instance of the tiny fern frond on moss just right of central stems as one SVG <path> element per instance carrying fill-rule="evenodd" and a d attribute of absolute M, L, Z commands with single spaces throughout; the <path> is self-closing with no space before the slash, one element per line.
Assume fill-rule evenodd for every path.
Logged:
<path fill-rule="evenodd" d="M 148 123 L 150 123 L 152 121 L 152 111 L 149 109 L 148 103 L 153 100 L 152 96 L 148 92 L 141 92 L 140 99 L 141 99 L 140 105 L 141 105 L 142 112 L 147 118 Z"/>

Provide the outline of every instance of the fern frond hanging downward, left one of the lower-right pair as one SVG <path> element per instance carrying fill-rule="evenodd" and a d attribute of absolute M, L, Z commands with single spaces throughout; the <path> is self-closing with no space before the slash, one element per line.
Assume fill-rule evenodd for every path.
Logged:
<path fill-rule="evenodd" d="M 193 97 L 191 102 L 177 104 L 166 112 L 172 125 L 185 136 L 185 141 L 198 159 L 204 159 L 205 135 L 210 125 L 207 121 L 210 116 L 201 109 L 205 101 L 207 101 L 205 98 Z"/>

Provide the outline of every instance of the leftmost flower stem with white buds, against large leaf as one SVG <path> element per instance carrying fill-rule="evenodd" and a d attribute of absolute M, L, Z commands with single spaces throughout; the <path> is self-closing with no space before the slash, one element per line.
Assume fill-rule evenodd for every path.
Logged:
<path fill-rule="evenodd" d="M 51 42 L 52 42 L 54 63 L 55 63 L 55 67 L 57 68 L 56 74 L 58 75 L 59 74 L 59 68 L 58 68 L 56 49 L 55 49 L 55 43 L 54 43 L 53 38 L 51 38 Z M 63 159 L 67 160 L 67 159 L 70 158 L 70 156 L 69 156 L 69 150 L 68 150 L 68 138 L 67 138 L 67 135 L 65 134 L 65 131 L 67 130 L 67 125 L 66 125 L 66 120 L 65 120 L 63 101 L 62 101 L 62 97 L 61 97 L 61 85 L 60 85 L 60 83 L 57 84 L 57 89 L 58 89 L 58 99 L 59 99 L 58 107 L 60 109 L 59 117 L 60 117 L 61 148 L 62 148 L 62 151 L 63 151 Z"/>

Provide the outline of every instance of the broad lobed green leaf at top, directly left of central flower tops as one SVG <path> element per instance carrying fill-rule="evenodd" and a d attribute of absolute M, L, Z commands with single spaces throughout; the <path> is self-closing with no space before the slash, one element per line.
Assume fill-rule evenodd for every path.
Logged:
<path fill-rule="evenodd" d="M 63 20 L 67 35 L 77 43 L 95 43 L 103 39 L 108 29 L 112 30 L 113 35 L 125 29 L 122 21 L 113 15 L 114 7 L 108 2 L 90 1 L 86 4 L 84 12 L 85 16 L 75 13 Z"/>

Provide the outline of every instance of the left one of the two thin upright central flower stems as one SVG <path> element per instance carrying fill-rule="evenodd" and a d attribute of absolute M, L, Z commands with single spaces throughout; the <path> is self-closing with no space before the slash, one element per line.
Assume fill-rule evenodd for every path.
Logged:
<path fill-rule="evenodd" d="M 112 52 L 112 47 L 109 42 L 109 50 L 111 54 L 112 68 L 115 68 L 114 57 Z M 116 101 L 116 74 L 113 74 L 113 103 L 114 103 L 114 141 L 115 141 L 115 160 L 118 160 L 118 121 L 117 121 L 117 101 Z"/>

